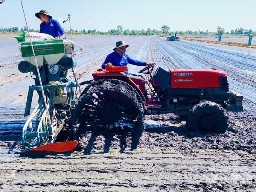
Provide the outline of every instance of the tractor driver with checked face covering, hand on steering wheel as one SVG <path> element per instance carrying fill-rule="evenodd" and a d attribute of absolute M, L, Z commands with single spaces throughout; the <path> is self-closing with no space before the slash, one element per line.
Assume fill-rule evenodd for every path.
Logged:
<path fill-rule="evenodd" d="M 128 63 L 136 66 L 152 66 L 154 64 L 154 62 L 148 63 L 148 62 L 138 61 L 136 59 L 131 58 L 130 56 L 125 54 L 127 47 L 129 47 L 129 45 L 125 44 L 124 41 L 117 41 L 116 47 L 113 49 L 114 52 L 107 55 L 105 61 L 101 65 L 101 68 L 106 69 L 106 66 L 126 67 Z M 139 89 L 142 91 L 146 99 L 146 103 L 151 102 L 152 98 L 148 97 L 145 79 L 142 78 L 142 76 L 138 76 L 136 74 L 130 74 L 128 71 L 124 71 L 124 73 L 127 76 L 129 76 L 136 85 L 139 85 Z"/>

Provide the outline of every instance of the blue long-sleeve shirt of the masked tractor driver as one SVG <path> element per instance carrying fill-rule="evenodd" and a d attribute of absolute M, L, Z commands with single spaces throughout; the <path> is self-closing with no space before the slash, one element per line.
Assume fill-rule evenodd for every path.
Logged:
<path fill-rule="evenodd" d="M 146 62 L 144 61 L 138 61 L 136 59 L 133 59 L 131 58 L 130 56 L 128 56 L 127 54 L 123 54 L 123 55 L 119 55 L 118 53 L 116 52 L 112 52 L 110 53 L 105 61 L 102 63 L 101 65 L 101 68 L 102 69 L 106 69 L 105 65 L 108 63 L 108 62 L 111 62 L 113 66 L 120 66 L 120 67 L 126 67 L 127 64 L 133 64 L 133 65 L 136 65 L 136 66 L 146 66 Z M 124 71 L 124 73 L 126 75 L 129 74 L 128 71 Z"/>

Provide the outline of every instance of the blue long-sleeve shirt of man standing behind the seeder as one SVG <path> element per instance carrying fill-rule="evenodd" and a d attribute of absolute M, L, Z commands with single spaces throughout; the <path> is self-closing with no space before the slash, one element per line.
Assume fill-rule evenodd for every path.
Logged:
<path fill-rule="evenodd" d="M 52 37 L 61 37 L 65 32 L 57 20 L 50 19 L 47 25 L 44 22 L 40 24 L 40 33 L 49 34 Z"/>

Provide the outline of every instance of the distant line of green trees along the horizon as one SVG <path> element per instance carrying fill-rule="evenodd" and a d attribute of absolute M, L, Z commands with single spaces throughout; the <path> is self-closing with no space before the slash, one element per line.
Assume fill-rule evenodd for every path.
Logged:
<path fill-rule="evenodd" d="M 170 31 L 170 27 L 167 25 L 161 26 L 160 30 L 156 29 L 142 29 L 142 30 L 129 30 L 125 29 L 123 30 L 122 26 L 117 26 L 117 29 L 110 29 L 108 32 L 102 32 L 97 31 L 96 29 L 88 29 L 88 30 L 66 30 L 66 34 L 85 34 L 85 35 L 173 35 L 176 33 L 177 35 L 256 35 L 256 31 L 253 31 L 251 29 L 243 29 L 243 28 L 236 28 L 235 30 L 231 30 L 230 32 L 225 32 L 225 29 L 218 26 L 217 32 L 209 32 L 206 31 L 192 31 L 192 30 L 186 30 L 186 31 Z M 20 30 L 18 27 L 10 27 L 10 28 L 0 28 L 0 33 L 23 33 L 27 31 L 27 27 L 24 26 Z M 29 29 L 30 32 L 39 32 L 40 30 L 34 30 Z"/>

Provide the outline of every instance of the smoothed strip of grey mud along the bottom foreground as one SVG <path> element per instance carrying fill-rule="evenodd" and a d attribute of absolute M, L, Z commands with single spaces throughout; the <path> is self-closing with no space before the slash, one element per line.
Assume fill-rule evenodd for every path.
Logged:
<path fill-rule="evenodd" d="M 255 161 L 250 154 L 222 150 L 108 153 L 20 158 L 9 162 L 5 191 L 252 191 Z M 3 156 L 8 156 L 3 154 Z M 12 166 L 11 166 L 12 165 Z M 249 166 L 248 166 L 249 165 Z M 17 173 L 15 169 L 17 169 Z M 245 183 L 244 180 L 247 182 Z M 10 182 L 10 183 L 8 183 Z"/>

